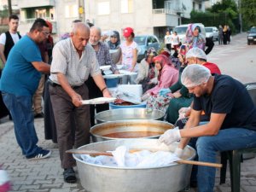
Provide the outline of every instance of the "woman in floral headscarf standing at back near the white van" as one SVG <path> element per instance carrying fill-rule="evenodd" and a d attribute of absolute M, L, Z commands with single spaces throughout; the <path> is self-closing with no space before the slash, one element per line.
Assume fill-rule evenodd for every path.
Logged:
<path fill-rule="evenodd" d="M 200 26 L 196 24 L 189 24 L 186 36 L 183 39 L 183 44 L 189 44 L 189 49 L 193 47 L 198 47 L 205 50 L 206 47 L 206 37 L 201 34 Z"/>

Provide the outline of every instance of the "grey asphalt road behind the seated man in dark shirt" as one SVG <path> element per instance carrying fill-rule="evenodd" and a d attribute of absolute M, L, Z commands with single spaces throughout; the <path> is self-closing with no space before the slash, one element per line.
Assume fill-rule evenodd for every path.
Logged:
<path fill-rule="evenodd" d="M 222 73 L 244 84 L 256 82 L 256 44 L 247 45 L 247 33 L 236 35 L 230 44 L 214 44 L 212 52 L 207 55 L 207 61 L 216 63 Z"/>

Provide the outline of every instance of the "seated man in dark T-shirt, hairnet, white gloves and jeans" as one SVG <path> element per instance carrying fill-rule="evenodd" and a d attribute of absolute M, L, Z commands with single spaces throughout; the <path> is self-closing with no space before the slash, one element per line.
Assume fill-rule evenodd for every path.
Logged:
<path fill-rule="evenodd" d="M 175 150 L 181 156 L 195 137 L 198 160 L 212 163 L 218 151 L 256 147 L 256 108 L 243 84 L 227 75 L 212 76 L 209 69 L 195 64 L 183 70 L 181 81 L 195 95 L 193 109 L 184 129 L 166 131 L 160 142 L 181 140 Z M 204 124 L 200 124 L 202 111 L 210 119 Z M 213 192 L 215 172 L 215 168 L 198 166 L 199 191 Z"/>

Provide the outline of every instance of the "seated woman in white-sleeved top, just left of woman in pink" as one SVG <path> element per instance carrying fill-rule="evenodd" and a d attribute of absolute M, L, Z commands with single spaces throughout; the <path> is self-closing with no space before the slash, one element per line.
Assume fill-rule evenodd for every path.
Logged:
<path fill-rule="evenodd" d="M 148 48 L 145 58 L 138 65 L 137 84 L 142 84 L 143 93 L 153 88 L 157 84 L 158 71 L 154 66 L 153 58 L 156 56 L 154 48 Z"/>

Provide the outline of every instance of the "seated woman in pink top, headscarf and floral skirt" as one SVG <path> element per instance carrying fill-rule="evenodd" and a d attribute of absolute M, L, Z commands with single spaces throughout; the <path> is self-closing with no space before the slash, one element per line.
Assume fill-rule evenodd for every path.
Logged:
<path fill-rule="evenodd" d="M 159 91 L 163 88 L 168 88 L 172 84 L 176 84 L 178 79 L 178 71 L 172 67 L 172 62 L 166 55 L 158 55 L 154 57 L 154 65 L 157 68 L 158 84 L 154 88 L 148 90 L 142 97 L 142 100 L 147 100 L 147 108 L 159 109 L 166 111 L 169 99 L 159 95 Z"/>

